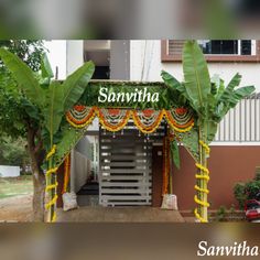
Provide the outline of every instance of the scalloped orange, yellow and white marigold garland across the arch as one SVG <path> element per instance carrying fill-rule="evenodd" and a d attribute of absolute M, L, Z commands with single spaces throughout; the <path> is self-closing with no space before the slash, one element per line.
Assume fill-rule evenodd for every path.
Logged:
<path fill-rule="evenodd" d="M 143 133 L 154 132 L 160 126 L 163 117 L 171 128 L 177 132 L 191 131 L 194 126 L 192 113 L 186 108 L 154 111 L 153 109 L 122 110 L 118 108 L 88 108 L 78 105 L 66 113 L 66 119 L 75 128 L 85 128 L 91 123 L 95 116 L 99 118 L 100 123 L 106 130 L 112 132 L 123 129 L 130 118 L 133 119 L 137 128 Z"/>

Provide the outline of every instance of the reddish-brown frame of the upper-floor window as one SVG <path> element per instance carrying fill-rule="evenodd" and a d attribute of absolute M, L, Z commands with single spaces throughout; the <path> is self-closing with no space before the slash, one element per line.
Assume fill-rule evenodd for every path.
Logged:
<path fill-rule="evenodd" d="M 170 55 L 167 53 L 169 40 L 161 41 L 161 62 L 182 62 L 181 54 Z M 257 63 L 260 62 L 260 41 L 256 40 L 256 54 L 254 55 L 238 55 L 238 54 L 205 54 L 207 62 L 243 62 L 243 63 Z"/>

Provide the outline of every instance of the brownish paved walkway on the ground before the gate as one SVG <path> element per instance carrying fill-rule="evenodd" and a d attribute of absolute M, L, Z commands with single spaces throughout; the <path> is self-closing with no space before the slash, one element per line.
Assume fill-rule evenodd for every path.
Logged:
<path fill-rule="evenodd" d="M 184 223 L 177 210 L 154 207 L 80 207 L 69 212 L 57 209 L 61 223 Z"/>

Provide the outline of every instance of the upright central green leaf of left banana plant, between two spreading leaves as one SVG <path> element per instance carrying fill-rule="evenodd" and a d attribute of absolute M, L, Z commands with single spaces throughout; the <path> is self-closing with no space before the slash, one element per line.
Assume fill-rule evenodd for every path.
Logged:
<path fill-rule="evenodd" d="M 53 137 L 61 124 L 63 110 L 63 88 L 58 82 L 52 82 L 48 89 L 45 90 L 46 104 L 43 109 L 45 127 Z"/>

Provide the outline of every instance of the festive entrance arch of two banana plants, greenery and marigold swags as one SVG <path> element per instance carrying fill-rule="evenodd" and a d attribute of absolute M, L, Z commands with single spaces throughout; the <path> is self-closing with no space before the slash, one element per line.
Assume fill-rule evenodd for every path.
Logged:
<path fill-rule="evenodd" d="M 253 86 L 238 88 L 241 80 L 239 74 L 236 74 L 227 86 L 220 78 L 210 78 L 207 63 L 196 41 L 186 41 L 184 44 L 182 56 L 184 82 L 182 83 L 162 71 L 161 76 L 164 83 L 91 82 L 88 85 L 95 71 L 91 62 L 84 64 L 63 83 L 58 83 L 52 80 L 53 73 L 46 61 L 42 63 L 44 68 L 42 77 L 47 80 L 42 80 L 36 79 L 32 71 L 7 50 L 1 48 L 0 56 L 13 73 L 21 90 L 32 104 L 37 106 L 39 115 L 41 115 L 39 120 L 41 130 L 44 132 L 43 147 L 46 151 L 47 221 L 56 220 L 58 167 L 65 160 L 64 184 L 67 184 L 69 181 L 68 154 L 78 140 L 85 136 L 86 128 L 95 117 L 108 131 L 118 132 L 132 120 L 141 132 L 148 134 L 155 132 L 161 122 L 166 120 L 170 131 L 163 140 L 162 194 L 167 193 L 169 183 L 171 183 L 169 154 L 172 150 L 177 150 L 177 140 L 191 153 L 197 167 L 194 186 L 196 191 L 194 202 L 197 207 L 194 214 L 198 221 L 208 221 L 209 143 L 214 140 L 217 127 L 225 115 L 242 98 L 254 91 Z M 111 98 L 110 101 L 99 104 L 97 100 L 101 87 L 109 89 L 109 94 L 115 93 L 115 96 L 124 93 L 124 96 L 129 97 L 129 102 L 126 104 L 120 98 L 113 101 Z M 151 94 L 158 93 L 154 96 L 159 99 L 140 101 L 141 88 L 149 89 Z M 140 93 L 137 102 L 130 101 L 133 91 L 137 96 Z M 130 94 L 127 95 L 127 93 Z M 34 118 L 31 115 L 30 117 Z M 64 185 L 65 192 L 66 188 L 67 185 Z"/>

